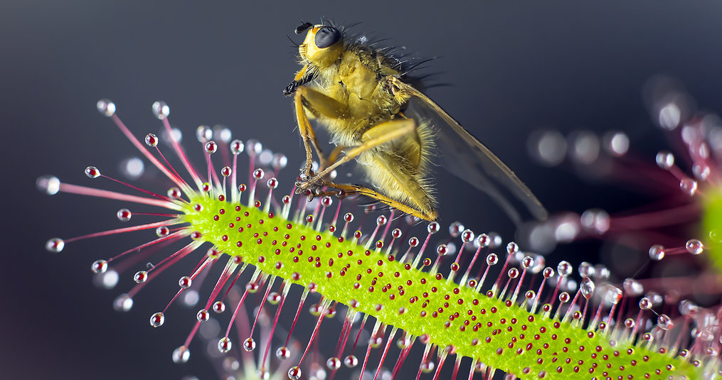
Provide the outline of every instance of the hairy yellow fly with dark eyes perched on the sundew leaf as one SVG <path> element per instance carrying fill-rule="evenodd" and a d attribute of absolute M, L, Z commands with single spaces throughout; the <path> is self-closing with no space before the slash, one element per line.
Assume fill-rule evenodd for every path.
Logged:
<path fill-rule="evenodd" d="M 309 198 L 338 190 L 359 193 L 432 221 L 438 211 L 430 164 L 438 149 L 445 169 L 488 193 L 515 221 L 520 216 L 497 185 L 520 199 L 536 218 L 547 216 L 529 187 L 497 156 L 404 81 L 398 60 L 350 40 L 332 25 L 305 22 L 295 32 L 306 32 L 298 47 L 303 67 L 284 94 L 293 94 L 306 151 L 297 193 L 310 190 Z M 318 146 L 309 118 L 331 134 L 336 148 L 329 156 Z M 319 161 L 316 173 L 312 146 Z M 376 190 L 331 182 L 329 173 L 352 159 Z"/>

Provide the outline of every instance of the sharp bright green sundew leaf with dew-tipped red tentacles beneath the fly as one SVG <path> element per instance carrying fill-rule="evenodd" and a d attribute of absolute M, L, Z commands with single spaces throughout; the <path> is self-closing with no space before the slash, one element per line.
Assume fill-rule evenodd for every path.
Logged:
<path fill-rule="evenodd" d="M 144 190 L 92 166 L 85 173 L 94 182 L 105 182 L 99 187 L 125 190 L 41 177 L 38 187 L 51 195 L 118 201 L 123 207 L 118 219 L 130 224 L 52 238 L 46 248 L 68 252 L 79 239 L 153 234 L 137 247 L 89 260 L 95 260 L 91 269 L 98 274 L 114 273 L 123 260 L 152 262 L 136 265 L 136 286 L 116 299 L 120 310 L 130 309 L 134 296 L 150 282 L 177 283 L 170 302 L 159 302 L 158 311 L 149 316 L 149 324 L 157 328 L 166 318 L 189 317 L 170 314 L 168 307 L 210 268 L 221 267 L 217 278 L 206 279 L 214 285 L 203 297 L 191 332 L 179 337 L 181 344 L 171 355 L 176 363 L 191 360 L 199 329 L 218 319 L 227 326 L 216 343 L 219 353 L 238 348 L 258 352 L 261 378 L 277 371 L 267 369 L 271 355 L 282 360 L 274 366 L 286 366 L 282 371 L 289 379 L 313 378 L 303 368 L 313 360 L 314 343 L 329 336 L 336 348 L 324 353 L 322 364 L 329 378 L 338 379 L 414 376 L 409 373 L 416 379 L 491 379 L 502 372 L 508 379 L 718 376 L 717 319 L 710 314 L 705 321 L 695 319 L 697 306 L 684 301 L 661 305 L 634 280 L 623 286 L 609 283 L 609 270 L 601 266 L 583 262 L 578 273 L 566 261 L 547 266 L 543 257 L 514 242 L 501 244 L 497 235 L 477 234 L 460 223 L 448 226 L 446 235 L 436 222 L 407 223 L 393 210 L 365 213 L 350 196 L 308 202 L 294 196 L 293 177 L 284 180 L 279 174 L 286 164 L 283 156 L 262 167 L 258 141 L 230 141 L 230 135 L 214 136 L 201 127 L 206 162 L 193 164 L 172 138 L 170 107 L 163 102 L 152 110 L 170 136 L 170 151 L 161 150 L 155 134 L 136 137 L 113 102 L 101 100 L 97 108 L 165 174 L 168 190 Z M 181 164 L 171 165 L 171 155 Z M 247 173 L 241 169 L 243 156 L 249 160 Z M 220 167 L 219 162 L 227 164 Z M 142 214 L 157 221 L 134 224 L 134 216 Z M 170 242 L 185 245 L 163 249 Z M 187 274 L 178 280 L 161 275 L 175 265 L 185 266 Z M 236 284 L 242 291 L 234 299 L 229 295 Z M 289 296 L 292 287 L 303 288 L 297 299 Z M 313 329 L 301 335 L 296 322 L 312 302 Z M 250 306 L 256 308 L 251 307 L 255 318 L 250 330 L 236 334 L 235 319 Z M 670 317 L 678 314 L 678 306 L 687 308 L 683 320 Z M 270 331 L 261 336 L 263 322 L 258 321 L 266 313 Z M 292 315 L 293 322 L 277 344 L 273 337 L 279 332 L 274 330 L 282 314 Z M 333 318 L 341 320 L 340 327 L 323 324 Z M 360 339 L 364 331 L 370 336 Z M 295 346 L 290 344 L 294 341 Z"/>

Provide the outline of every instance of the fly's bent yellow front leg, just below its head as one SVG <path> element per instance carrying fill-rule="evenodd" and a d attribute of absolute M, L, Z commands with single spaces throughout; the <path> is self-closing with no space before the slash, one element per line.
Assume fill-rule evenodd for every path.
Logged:
<path fill-rule="evenodd" d="M 298 131 L 301 134 L 301 138 L 303 138 L 303 146 L 306 150 L 305 167 L 301 170 L 301 180 L 297 183 L 296 188 L 296 193 L 301 193 L 313 183 L 308 182 L 308 180 L 313 177 L 311 170 L 313 164 L 311 146 L 313 146 L 313 149 L 316 149 L 321 169 L 327 166 L 326 159 L 323 157 L 323 151 L 321 151 L 321 148 L 318 146 L 316 133 L 313 131 L 313 127 L 311 127 L 305 109 L 308 109 L 320 117 L 338 119 L 345 118 L 348 115 L 348 107 L 332 97 L 328 97 L 315 89 L 310 89 L 305 86 L 300 86 L 295 90 L 293 100 Z"/>

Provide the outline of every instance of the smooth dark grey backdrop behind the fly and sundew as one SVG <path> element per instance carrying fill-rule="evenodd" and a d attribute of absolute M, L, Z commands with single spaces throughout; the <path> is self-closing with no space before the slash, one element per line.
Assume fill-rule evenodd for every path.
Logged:
<path fill-rule="evenodd" d="M 201 355 L 186 366 L 170 362 L 188 323 L 147 325 L 175 291 L 175 277 L 149 286 L 155 291 L 139 297 L 130 314 L 117 314 L 110 304 L 130 287 L 129 274 L 107 292 L 91 285 L 87 268 L 127 243 L 77 244 L 62 255 L 43 249 L 49 237 L 116 227 L 119 206 L 49 198 L 35 190 L 35 177 L 52 173 L 88 185 L 84 167 L 116 173 L 117 162 L 134 154 L 95 111 L 101 97 L 116 102 L 136 136 L 158 130 L 150 105 L 162 99 L 186 142 L 199 124 L 225 123 L 236 136 L 260 138 L 300 162 L 291 101 L 281 94 L 297 70 L 286 35 L 300 20 L 320 17 L 362 22 L 356 30 L 389 37 L 389 44 L 420 56 L 441 56 L 429 71 L 443 72 L 438 80 L 452 86 L 428 94 L 552 211 L 623 208 L 630 200 L 541 169 L 526 154 L 529 131 L 651 130 L 640 89 L 658 73 L 681 79 L 700 105 L 719 109 L 722 100 L 721 12 L 711 1 L 6 2 L 0 6 L 6 195 L 0 377 L 214 378 Z M 444 178 L 438 187 L 446 223 L 458 218 L 478 231 L 511 233 L 506 218 L 484 206 L 486 198 Z M 175 316 L 188 322 L 192 311 L 177 308 Z"/>

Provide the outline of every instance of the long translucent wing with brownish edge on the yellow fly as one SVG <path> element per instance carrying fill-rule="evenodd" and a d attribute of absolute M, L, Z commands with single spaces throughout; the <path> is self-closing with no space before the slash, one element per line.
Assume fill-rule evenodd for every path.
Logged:
<path fill-rule="evenodd" d="M 541 206 L 541 202 L 531 193 L 529 187 L 441 107 L 419 90 L 398 79 L 393 80 L 393 87 L 411 96 L 404 111 L 406 116 L 425 120 L 433 125 L 438 133 L 437 143 L 442 163 L 448 172 L 487 193 L 517 224 L 521 221 L 521 216 L 510 202 L 508 194 L 500 189 L 507 190 L 514 198 L 521 200 L 534 218 L 547 218 L 547 210 Z"/>

